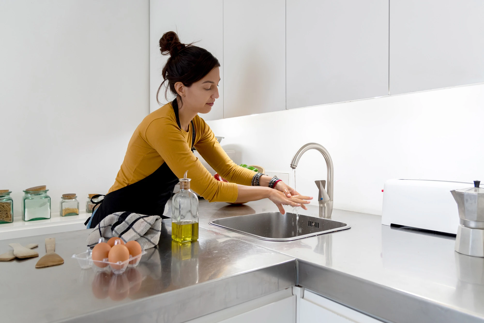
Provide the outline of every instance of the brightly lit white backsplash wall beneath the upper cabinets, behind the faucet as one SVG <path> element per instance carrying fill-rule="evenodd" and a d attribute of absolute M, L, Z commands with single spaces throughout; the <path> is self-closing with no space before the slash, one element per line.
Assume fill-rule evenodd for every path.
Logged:
<path fill-rule="evenodd" d="M 302 145 L 323 145 L 333 158 L 334 207 L 381 214 L 389 178 L 484 180 L 483 120 L 478 84 L 208 123 L 225 136 L 224 148 L 266 171 L 292 174 L 289 163 Z M 296 173 L 297 190 L 317 197 L 323 157 L 308 151 Z"/>

